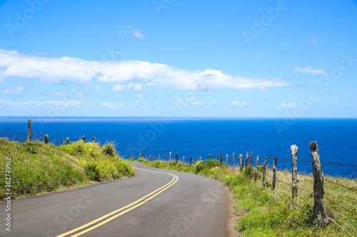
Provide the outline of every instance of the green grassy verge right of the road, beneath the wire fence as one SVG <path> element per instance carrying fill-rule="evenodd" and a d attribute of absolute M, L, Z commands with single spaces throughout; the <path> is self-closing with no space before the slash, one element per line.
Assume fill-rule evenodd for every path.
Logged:
<path fill-rule="evenodd" d="M 291 197 L 291 173 L 277 172 L 276 190 L 271 191 L 271 171 L 267 171 L 266 187 L 262 187 L 259 173 L 258 181 L 254 181 L 255 170 L 250 167 L 239 172 L 238 169 L 221 168 L 216 161 L 198 161 L 191 167 L 182 162 L 148 162 L 144 159 L 138 162 L 151 167 L 171 169 L 181 172 L 201 174 L 218 179 L 228 186 L 236 199 L 234 206 L 238 216 L 236 229 L 239 236 L 349 236 L 332 221 L 326 226 L 320 227 L 313 218 L 313 178 L 298 175 L 298 197 Z M 258 167 L 261 171 L 262 167 Z M 338 177 L 324 177 L 344 186 L 357 189 L 357 181 Z M 325 213 L 349 233 L 357 234 L 357 216 L 341 209 L 336 204 L 328 201 L 326 197 L 341 204 L 346 209 L 357 213 L 357 191 L 346 189 L 336 184 L 324 182 L 325 189 Z"/>

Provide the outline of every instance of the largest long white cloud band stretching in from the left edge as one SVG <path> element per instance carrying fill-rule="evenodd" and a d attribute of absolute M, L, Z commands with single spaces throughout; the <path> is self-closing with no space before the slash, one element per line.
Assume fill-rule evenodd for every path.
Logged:
<path fill-rule="evenodd" d="M 267 90 L 294 86 L 281 78 L 248 78 L 223 74 L 220 70 L 188 71 L 166 64 L 138 60 L 87 61 L 79 58 L 45 58 L 28 56 L 17 51 L 0 49 L 0 78 L 41 78 L 44 83 L 72 83 L 89 85 L 91 80 L 101 83 L 133 83 L 133 90 L 147 86 L 170 86 L 178 90 L 215 91 L 221 88 Z M 137 82 L 140 83 L 137 83 Z"/>

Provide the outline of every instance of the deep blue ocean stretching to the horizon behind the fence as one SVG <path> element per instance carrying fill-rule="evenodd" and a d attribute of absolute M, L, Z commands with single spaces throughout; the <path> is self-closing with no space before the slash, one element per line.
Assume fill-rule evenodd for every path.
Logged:
<path fill-rule="evenodd" d="M 235 153 L 253 152 L 256 156 L 291 159 L 291 145 L 298 146 L 298 172 L 312 172 L 309 142 L 317 141 L 321 162 L 357 165 L 357 119 L 277 119 L 277 118 L 201 118 L 201 117 L 0 117 L 0 136 L 26 137 L 27 120 L 32 120 L 34 137 L 43 139 L 49 135 L 50 142 L 62 144 L 66 137 L 74 142 L 85 136 L 87 140 L 101 144 L 115 142 L 119 154 L 128 158 L 133 155 L 151 159 L 173 159 L 176 153 L 180 160 L 185 157 L 197 160 L 208 159 L 211 154 L 226 154 L 230 165 Z M 18 133 L 6 133 L 15 131 Z M 25 138 L 26 139 L 26 138 Z M 268 159 L 272 167 L 273 159 Z M 291 161 L 278 160 L 278 169 L 290 169 Z M 322 164 L 323 173 L 336 177 L 357 178 L 357 167 Z"/>

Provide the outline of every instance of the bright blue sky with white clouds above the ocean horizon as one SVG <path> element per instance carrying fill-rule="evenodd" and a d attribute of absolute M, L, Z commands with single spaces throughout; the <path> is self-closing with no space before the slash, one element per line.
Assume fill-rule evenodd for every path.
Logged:
<path fill-rule="evenodd" d="M 0 115 L 357 117 L 357 1 L 0 1 Z"/>

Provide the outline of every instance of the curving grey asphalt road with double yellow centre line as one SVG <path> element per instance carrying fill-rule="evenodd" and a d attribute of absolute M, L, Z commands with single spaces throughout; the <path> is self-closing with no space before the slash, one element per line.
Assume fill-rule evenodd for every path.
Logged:
<path fill-rule="evenodd" d="M 226 189 L 195 174 L 134 163 L 136 176 L 11 201 L 2 236 L 232 236 Z M 0 203 L 4 223 L 6 202 Z"/>

